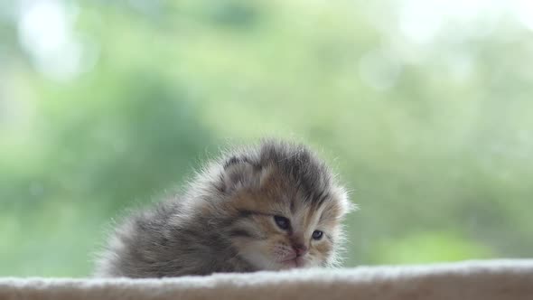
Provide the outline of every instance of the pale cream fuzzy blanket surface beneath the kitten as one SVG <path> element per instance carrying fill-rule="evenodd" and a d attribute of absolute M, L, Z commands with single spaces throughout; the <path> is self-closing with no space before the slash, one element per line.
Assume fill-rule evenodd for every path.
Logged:
<path fill-rule="evenodd" d="M 0 299 L 533 300 L 533 259 L 164 279 L 8 277 Z"/>

